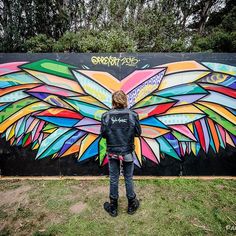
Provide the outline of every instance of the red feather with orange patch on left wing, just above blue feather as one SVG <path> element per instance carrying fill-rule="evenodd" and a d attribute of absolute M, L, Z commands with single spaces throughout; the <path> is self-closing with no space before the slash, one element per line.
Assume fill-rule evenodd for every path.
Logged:
<path fill-rule="evenodd" d="M 38 113 L 36 116 L 54 116 L 54 117 L 56 116 L 56 117 L 72 118 L 72 119 L 83 118 L 83 116 L 80 115 L 78 112 L 74 112 L 64 108 L 50 108 L 46 111 Z"/>

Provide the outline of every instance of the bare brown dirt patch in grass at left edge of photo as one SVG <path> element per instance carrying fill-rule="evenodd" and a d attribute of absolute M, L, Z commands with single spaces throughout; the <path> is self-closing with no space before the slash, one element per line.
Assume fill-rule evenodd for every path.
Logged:
<path fill-rule="evenodd" d="M 14 203 L 27 204 L 28 195 L 27 192 L 31 189 L 31 186 L 20 186 L 16 189 L 0 192 L 0 206 L 11 205 Z"/>

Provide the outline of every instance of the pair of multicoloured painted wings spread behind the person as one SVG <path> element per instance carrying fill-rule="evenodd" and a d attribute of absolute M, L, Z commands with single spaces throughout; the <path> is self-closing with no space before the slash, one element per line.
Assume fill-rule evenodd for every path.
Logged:
<path fill-rule="evenodd" d="M 136 166 L 235 148 L 236 67 L 177 61 L 134 69 L 122 80 L 84 68 L 49 59 L 1 64 L 1 138 L 31 146 L 36 159 L 74 154 L 78 161 L 95 158 L 106 165 L 101 115 L 111 108 L 112 93 L 122 89 L 142 127 Z"/>

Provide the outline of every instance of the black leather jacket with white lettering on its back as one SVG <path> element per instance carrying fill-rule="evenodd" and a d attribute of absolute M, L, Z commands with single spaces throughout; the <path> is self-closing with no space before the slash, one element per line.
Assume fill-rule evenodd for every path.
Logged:
<path fill-rule="evenodd" d="M 102 115 L 101 135 L 106 138 L 107 152 L 128 154 L 134 150 L 134 137 L 141 135 L 138 114 L 124 109 L 112 109 Z"/>

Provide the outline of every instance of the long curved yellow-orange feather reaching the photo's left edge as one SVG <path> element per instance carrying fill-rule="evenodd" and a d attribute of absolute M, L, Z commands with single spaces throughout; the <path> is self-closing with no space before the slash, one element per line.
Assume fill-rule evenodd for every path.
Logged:
<path fill-rule="evenodd" d="M 39 110 L 44 110 L 48 108 L 48 104 L 44 102 L 37 102 L 30 104 L 27 107 L 22 108 L 20 111 L 12 115 L 7 120 L 3 121 L 0 125 L 0 133 L 3 133 L 10 125 L 19 120 L 20 118 Z"/>

